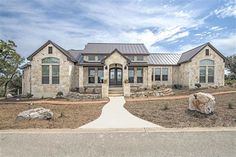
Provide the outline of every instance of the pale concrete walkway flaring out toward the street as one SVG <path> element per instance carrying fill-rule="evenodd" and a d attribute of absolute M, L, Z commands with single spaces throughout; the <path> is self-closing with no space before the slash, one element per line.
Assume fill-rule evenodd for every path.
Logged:
<path fill-rule="evenodd" d="M 103 107 L 101 116 L 80 128 L 150 128 L 160 127 L 151 122 L 142 120 L 129 113 L 123 105 L 125 99 L 109 97 L 110 101 Z"/>

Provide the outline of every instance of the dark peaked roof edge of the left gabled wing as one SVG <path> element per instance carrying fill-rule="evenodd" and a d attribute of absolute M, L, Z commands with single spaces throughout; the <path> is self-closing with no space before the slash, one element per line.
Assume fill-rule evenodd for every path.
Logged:
<path fill-rule="evenodd" d="M 34 53 L 32 53 L 29 57 L 27 57 L 28 60 L 32 60 L 32 58 L 39 53 L 42 49 L 44 49 L 47 45 L 52 44 L 54 47 L 56 47 L 60 52 L 62 52 L 68 60 L 72 62 L 77 62 L 76 59 L 73 57 L 71 53 L 57 45 L 56 43 L 52 42 L 51 40 L 48 40 L 45 44 L 43 44 L 39 49 L 37 49 Z"/>

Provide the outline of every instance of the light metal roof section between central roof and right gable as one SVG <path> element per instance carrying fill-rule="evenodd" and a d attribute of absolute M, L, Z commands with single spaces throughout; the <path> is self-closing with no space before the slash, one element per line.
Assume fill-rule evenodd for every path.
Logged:
<path fill-rule="evenodd" d="M 177 65 L 181 54 L 177 53 L 151 53 L 148 63 L 151 65 Z"/>

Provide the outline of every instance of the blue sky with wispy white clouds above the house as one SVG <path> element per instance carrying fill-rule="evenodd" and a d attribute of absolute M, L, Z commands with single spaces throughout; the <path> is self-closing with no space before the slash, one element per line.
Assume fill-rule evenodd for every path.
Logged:
<path fill-rule="evenodd" d="M 65 49 L 144 43 L 156 53 L 209 41 L 228 56 L 236 54 L 236 0 L 1 0 L 0 39 L 24 57 L 49 39 Z"/>

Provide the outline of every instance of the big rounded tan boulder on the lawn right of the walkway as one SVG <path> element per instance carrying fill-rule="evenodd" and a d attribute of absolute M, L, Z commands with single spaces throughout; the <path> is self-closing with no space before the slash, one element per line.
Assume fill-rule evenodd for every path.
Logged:
<path fill-rule="evenodd" d="M 213 113 L 215 103 L 215 97 L 209 93 L 199 92 L 189 96 L 189 109 L 201 113 Z"/>

